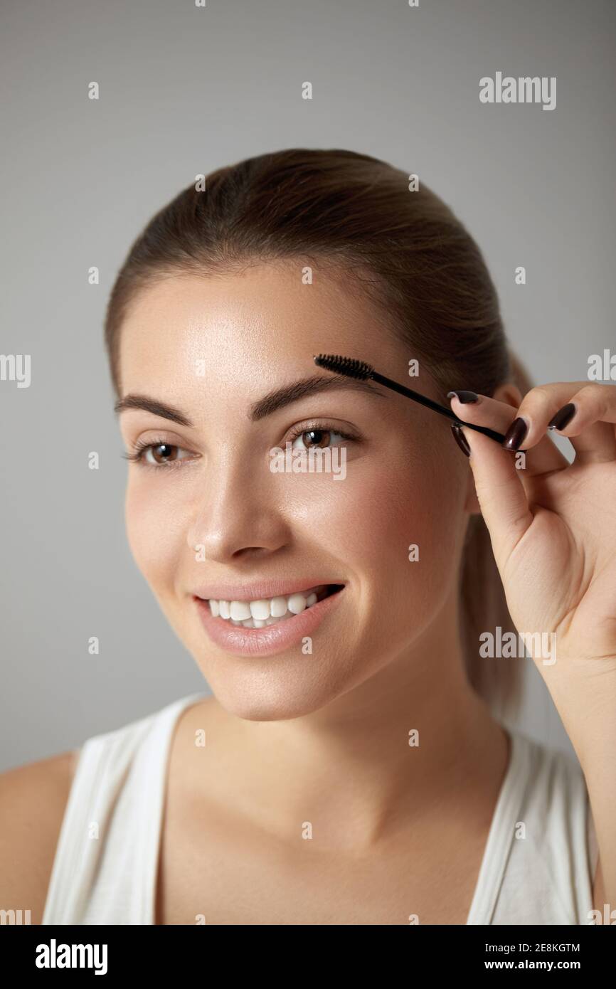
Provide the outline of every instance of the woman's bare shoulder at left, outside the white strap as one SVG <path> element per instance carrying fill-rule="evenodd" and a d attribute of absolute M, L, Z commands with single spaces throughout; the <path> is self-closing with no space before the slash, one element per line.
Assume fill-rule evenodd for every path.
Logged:
<path fill-rule="evenodd" d="M 0 908 L 41 924 L 78 751 L 0 773 Z"/>

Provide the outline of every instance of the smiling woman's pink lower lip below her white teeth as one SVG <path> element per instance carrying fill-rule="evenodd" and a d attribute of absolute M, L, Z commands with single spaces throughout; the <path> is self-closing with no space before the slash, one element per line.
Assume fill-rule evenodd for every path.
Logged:
<path fill-rule="evenodd" d="M 206 632 L 225 652 L 234 656 L 275 656 L 277 653 L 284 653 L 290 646 L 297 645 L 305 636 L 311 635 L 336 607 L 341 594 L 342 589 L 305 608 L 293 618 L 285 618 L 284 621 L 279 621 L 275 625 L 265 625 L 263 628 L 231 625 L 225 618 L 215 618 L 207 601 L 199 597 L 194 600 Z"/>

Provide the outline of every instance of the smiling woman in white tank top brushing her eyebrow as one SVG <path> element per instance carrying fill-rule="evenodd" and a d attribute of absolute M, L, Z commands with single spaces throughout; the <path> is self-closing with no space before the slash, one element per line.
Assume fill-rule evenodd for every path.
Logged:
<path fill-rule="evenodd" d="M 106 339 L 132 554 L 213 693 L 4 775 L 2 905 L 592 923 L 616 899 L 616 389 L 529 391 L 471 236 L 345 150 L 180 193 L 132 245 Z M 273 470 L 286 449 L 336 451 L 344 476 Z M 513 629 L 538 636 L 579 765 L 502 723 L 531 659 L 484 647 Z"/>

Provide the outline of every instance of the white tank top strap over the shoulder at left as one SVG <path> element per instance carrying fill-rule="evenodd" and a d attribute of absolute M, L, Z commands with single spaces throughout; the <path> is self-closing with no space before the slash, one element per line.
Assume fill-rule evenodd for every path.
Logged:
<path fill-rule="evenodd" d="M 190 694 L 89 738 L 69 791 L 43 924 L 153 924 L 169 746 Z"/>

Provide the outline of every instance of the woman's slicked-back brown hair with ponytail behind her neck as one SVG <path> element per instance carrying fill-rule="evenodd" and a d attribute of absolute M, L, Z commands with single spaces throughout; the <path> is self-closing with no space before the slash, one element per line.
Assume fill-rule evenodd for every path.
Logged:
<path fill-rule="evenodd" d="M 524 395 L 530 382 L 507 349 L 478 245 L 423 182 L 410 191 L 409 179 L 367 154 L 291 148 L 220 168 L 201 187 L 184 189 L 133 242 L 111 293 L 105 339 L 117 394 L 120 329 L 139 289 L 178 273 L 228 273 L 297 257 L 352 274 L 425 362 L 445 405 L 452 388 L 489 396 L 506 381 Z M 469 679 L 492 706 L 513 711 L 519 659 L 479 655 L 481 631 L 515 631 L 481 515 L 471 516 L 460 578 Z"/>

